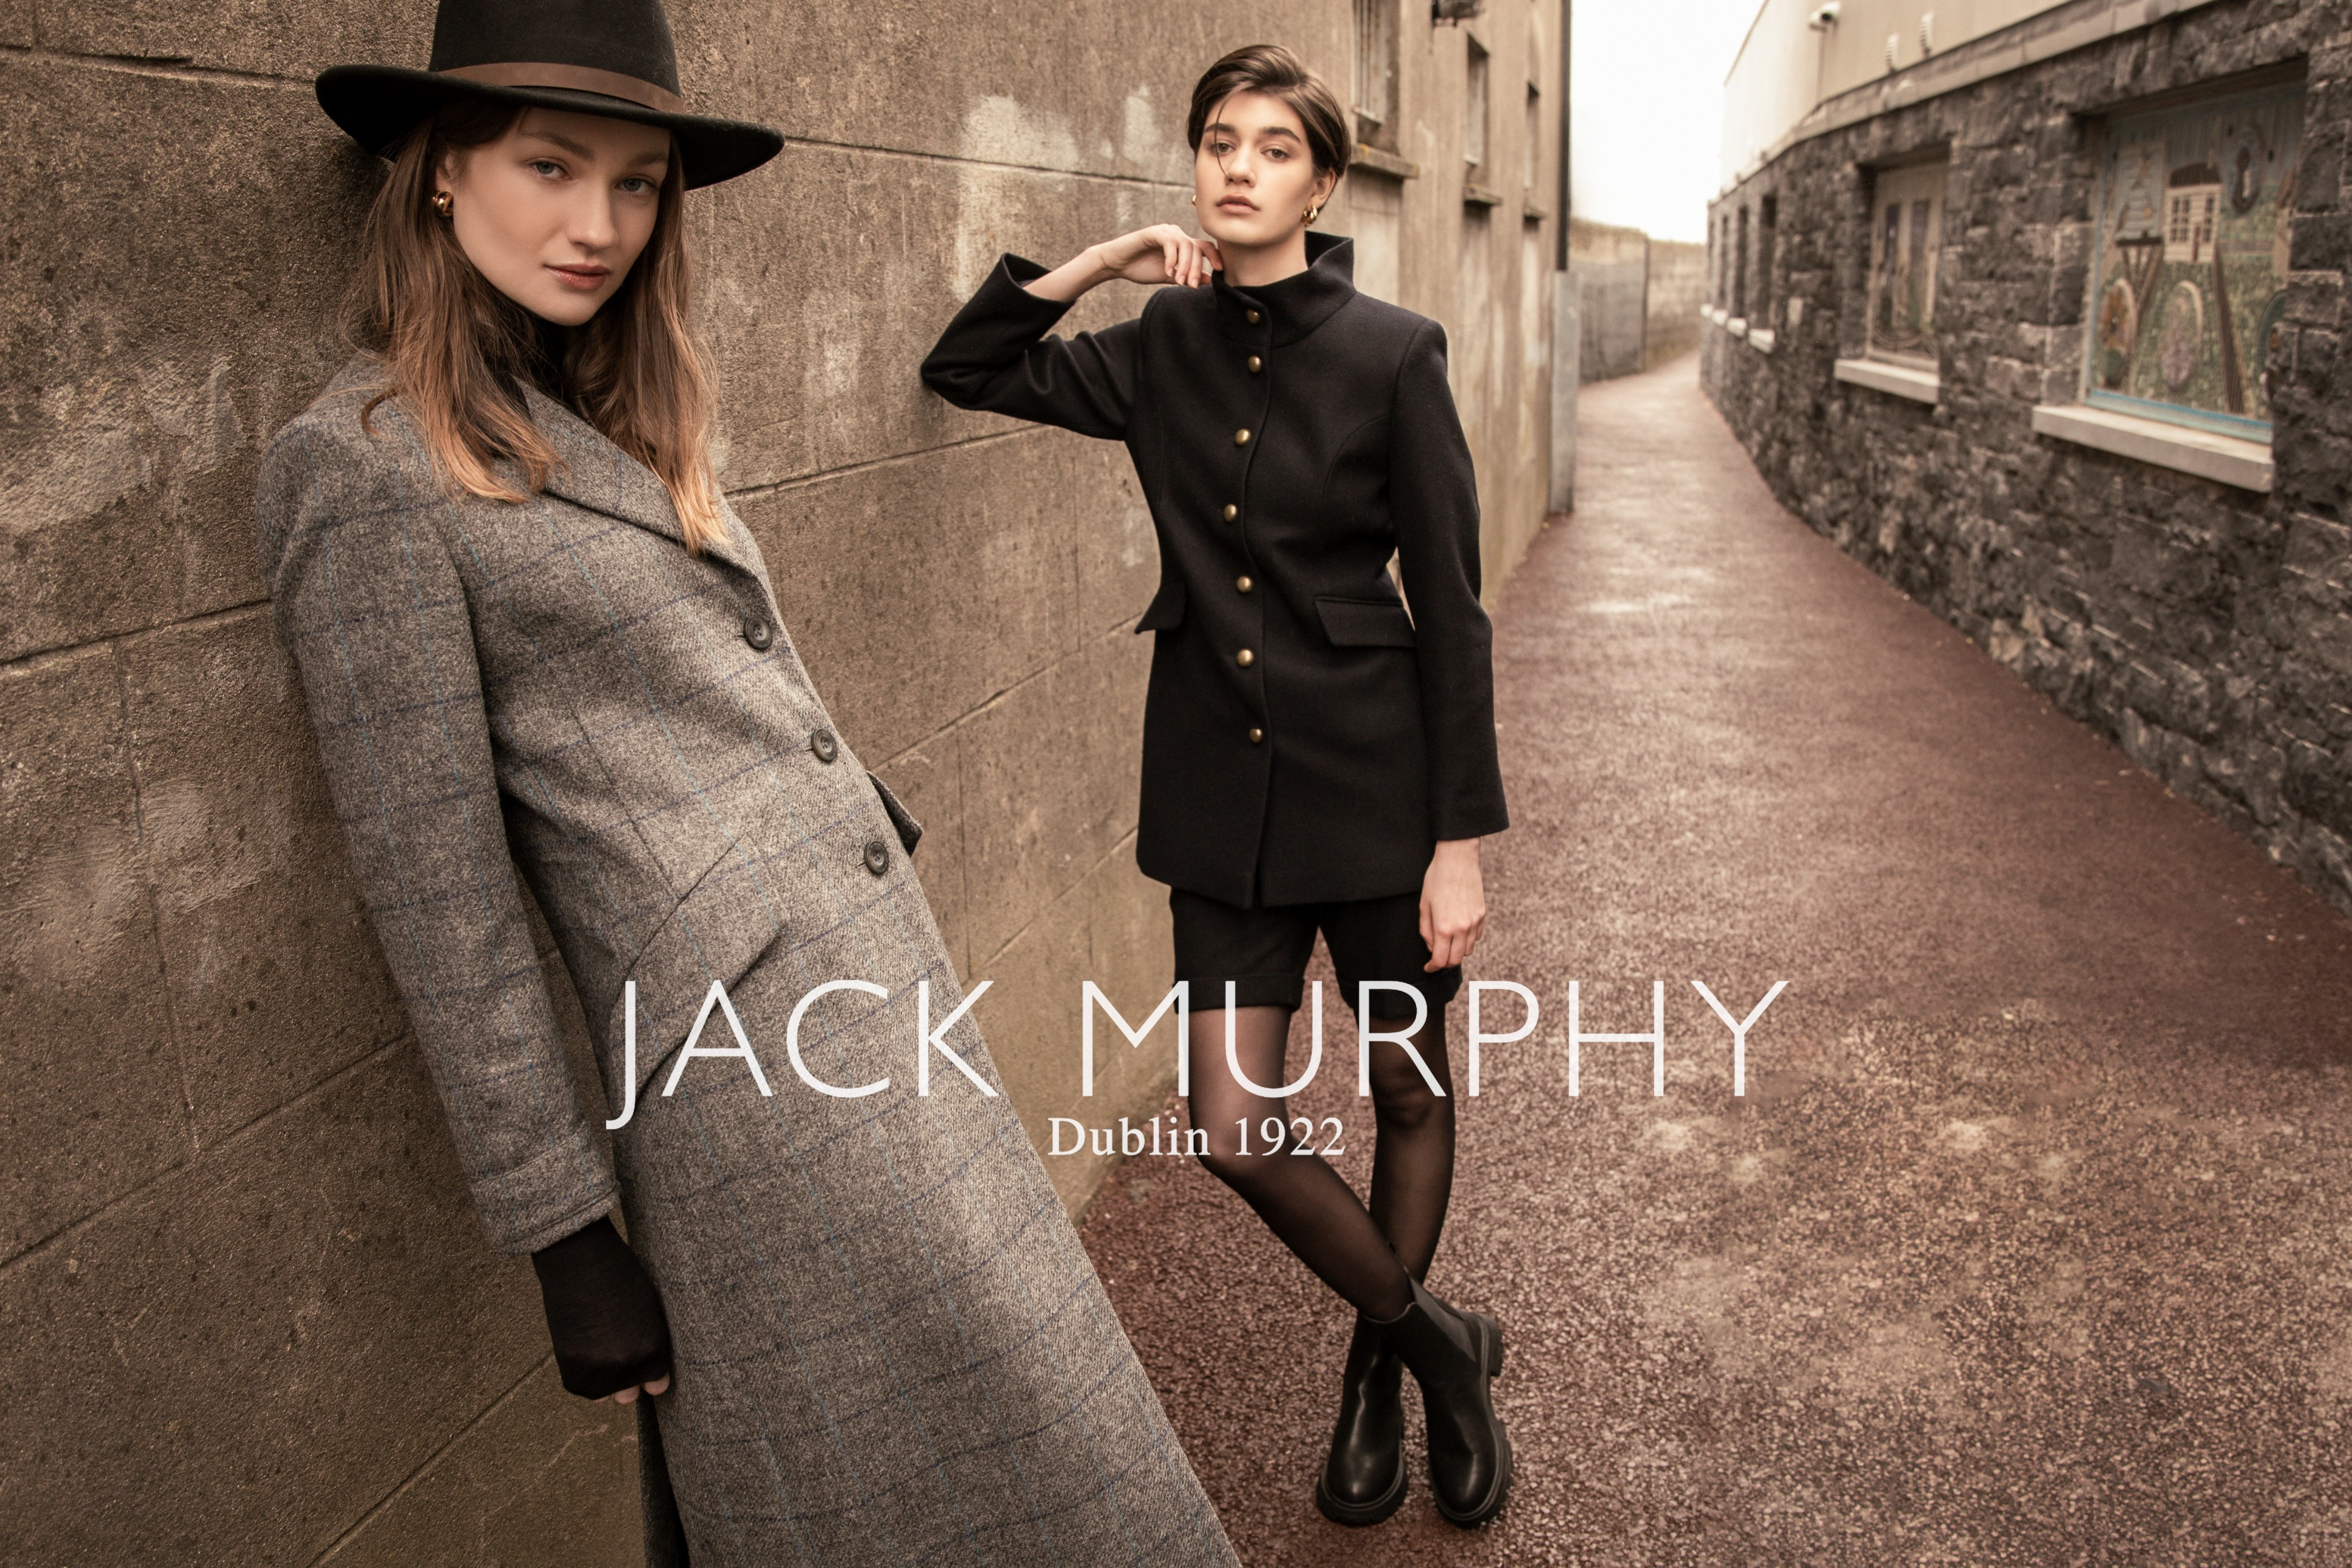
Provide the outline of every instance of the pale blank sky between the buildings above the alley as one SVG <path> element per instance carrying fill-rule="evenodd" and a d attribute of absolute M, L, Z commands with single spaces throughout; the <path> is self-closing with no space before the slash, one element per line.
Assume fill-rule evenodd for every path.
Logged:
<path fill-rule="evenodd" d="M 1576 216 L 1705 240 L 1724 148 L 1724 73 L 1757 0 L 1569 0 Z"/>

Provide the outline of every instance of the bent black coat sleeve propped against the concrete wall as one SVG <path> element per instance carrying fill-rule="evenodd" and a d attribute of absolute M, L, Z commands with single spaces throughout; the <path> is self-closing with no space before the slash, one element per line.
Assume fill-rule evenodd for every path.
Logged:
<path fill-rule="evenodd" d="M 1000 256 L 922 362 L 922 383 L 960 409 L 1011 414 L 1080 435 L 1127 440 L 1136 407 L 1141 317 L 1049 339 L 1070 306 L 1030 294 L 1047 268 Z"/>

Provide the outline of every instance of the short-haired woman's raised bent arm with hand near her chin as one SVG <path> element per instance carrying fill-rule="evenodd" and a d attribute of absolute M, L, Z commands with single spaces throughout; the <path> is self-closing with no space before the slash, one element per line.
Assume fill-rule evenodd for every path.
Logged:
<path fill-rule="evenodd" d="M 1089 244 L 1051 273 L 1023 256 L 1000 256 L 938 334 L 922 381 L 960 409 L 1124 440 L 1141 376 L 1138 324 L 1129 320 L 1068 341 L 1047 331 L 1087 289 L 1112 277 L 1202 287 L 1214 266 L 1216 247 L 1174 223 Z"/>

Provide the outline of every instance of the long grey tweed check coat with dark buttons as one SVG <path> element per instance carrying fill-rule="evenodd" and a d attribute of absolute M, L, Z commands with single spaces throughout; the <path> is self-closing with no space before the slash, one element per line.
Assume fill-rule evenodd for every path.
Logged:
<path fill-rule="evenodd" d="M 833 733 L 734 512 L 689 555 L 668 491 L 529 395 L 560 465 L 452 496 L 353 360 L 270 444 L 261 562 L 386 961 L 506 1253 L 616 1204 L 675 1385 L 647 1537 L 694 1563 L 1232 1563 L 1002 1093 L 934 1058 L 962 1001 L 884 797 Z M 517 877 L 588 1011 L 567 1072 Z M 637 1112 L 623 1100 L 635 980 Z M 800 1060 L 793 1009 L 809 1004 Z M 720 983 L 762 1093 L 713 1011 Z M 1002 1091 L 969 1016 L 943 1034 Z"/>

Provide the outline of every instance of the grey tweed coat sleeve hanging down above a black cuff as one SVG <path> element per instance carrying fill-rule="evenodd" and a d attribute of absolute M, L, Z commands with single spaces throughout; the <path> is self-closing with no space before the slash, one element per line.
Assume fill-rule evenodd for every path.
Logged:
<path fill-rule="evenodd" d="M 315 409 L 270 444 L 261 569 L 482 1225 L 529 1253 L 612 1208 L 612 1164 L 506 849 L 473 621 L 435 517 L 449 501 L 390 409 L 376 435 L 355 409 Z"/>

